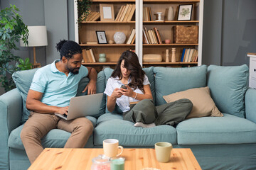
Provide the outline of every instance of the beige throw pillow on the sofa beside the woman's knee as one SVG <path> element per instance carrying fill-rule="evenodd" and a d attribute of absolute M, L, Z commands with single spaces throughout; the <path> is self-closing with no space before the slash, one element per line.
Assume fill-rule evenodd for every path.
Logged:
<path fill-rule="evenodd" d="M 215 106 L 213 99 L 210 97 L 210 89 L 208 86 L 188 89 L 175 94 L 163 96 L 167 103 L 177 101 L 181 98 L 188 98 L 193 103 L 191 113 L 186 118 L 200 118 L 204 116 L 223 116 Z"/>

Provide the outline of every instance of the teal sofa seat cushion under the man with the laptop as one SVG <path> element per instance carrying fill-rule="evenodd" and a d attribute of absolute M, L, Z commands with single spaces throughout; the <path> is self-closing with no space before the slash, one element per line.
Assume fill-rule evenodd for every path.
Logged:
<path fill-rule="evenodd" d="M 86 118 L 89 119 L 92 122 L 93 127 L 95 127 L 96 118 L 93 118 L 92 116 L 87 116 Z M 14 149 L 24 149 L 23 143 L 21 141 L 21 130 L 23 128 L 23 125 L 20 125 L 18 128 L 11 131 L 11 134 L 8 140 L 8 147 L 11 147 Z M 48 134 L 42 138 L 41 142 L 44 148 L 46 147 L 61 148 L 61 147 L 64 147 L 65 142 L 67 142 L 70 135 L 71 135 L 70 132 L 66 132 L 64 130 L 59 130 L 59 129 L 53 129 L 53 130 L 50 130 L 50 132 L 48 132 Z M 93 147 L 92 135 L 87 141 L 85 147 Z"/>

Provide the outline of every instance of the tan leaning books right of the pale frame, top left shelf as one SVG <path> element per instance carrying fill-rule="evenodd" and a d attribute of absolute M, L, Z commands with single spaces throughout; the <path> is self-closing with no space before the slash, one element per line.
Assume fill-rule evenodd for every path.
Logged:
<path fill-rule="evenodd" d="M 132 16 L 134 15 L 135 4 L 127 4 L 121 6 L 115 21 L 132 21 Z"/>

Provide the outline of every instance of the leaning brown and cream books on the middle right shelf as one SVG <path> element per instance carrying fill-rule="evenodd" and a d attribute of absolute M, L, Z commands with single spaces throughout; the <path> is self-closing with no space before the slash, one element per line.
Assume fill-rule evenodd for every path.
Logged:
<path fill-rule="evenodd" d="M 155 27 L 150 30 L 146 30 L 146 28 L 144 28 L 143 43 L 144 44 L 162 44 L 163 42 L 161 41 L 161 35 L 159 33 L 159 30 L 157 30 Z"/>

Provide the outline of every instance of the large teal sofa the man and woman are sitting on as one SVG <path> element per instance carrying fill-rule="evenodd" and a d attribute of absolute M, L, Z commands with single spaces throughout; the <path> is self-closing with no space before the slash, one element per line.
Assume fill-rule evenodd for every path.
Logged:
<path fill-rule="evenodd" d="M 16 89 L 0 96 L 0 169 L 28 169 L 30 162 L 21 142 L 21 129 L 29 112 L 26 94 L 36 69 L 16 72 Z M 191 118 L 176 128 L 159 125 L 154 128 L 135 128 L 122 120 L 119 108 L 107 111 L 106 98 L 100 112 L 88 116 L 95 127 L 85 147 L 102 147 L 107 138 L 119 140 L 124 147 L 154 147 L 160 141 L 171 142 L 176 148 L 191 148 L 202 169 L 256 169 L 256 90 L 248 89 L 248 67 L 144 68 L 151 83 L 156 105 L 165 103 L 163 96 L 203 86 L 223 117 Z M 105 90 L 112 69 L 104 69 L 97 77 L 97 93 Z M 82 79 L 78 96 L 87 84 Z M 44 147 L 64 147 L 69 132 L 50 130 L 43 137 Z"/>

